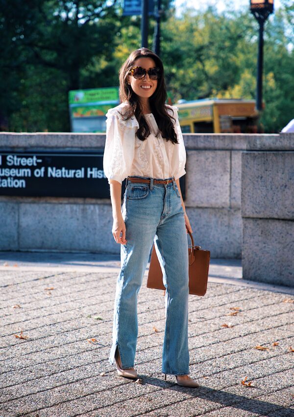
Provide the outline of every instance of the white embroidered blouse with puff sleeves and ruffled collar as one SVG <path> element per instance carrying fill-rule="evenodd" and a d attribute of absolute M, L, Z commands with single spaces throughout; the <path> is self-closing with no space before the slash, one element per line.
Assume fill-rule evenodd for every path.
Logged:
<path fill-rule="evenodd" d="M 119 113 L 124 113 L 121 103 L 110 108 L 106 113 L 106 142 L 103 156 L 104 174 L 109 180 L 120 183 L 127 176 L 141 176 L 157 179 L 166 179 L 174 176 L 177 180 L 186 174 L 186 150 L 180 128 L 177 110 L 178 108 L 166 104 L 168 113 L 175 118 L 174 130 L 179 144 L 166 141 L 157 131 L 157 123 L 152 113 L 145 114 L 150 126 L 151 134 L 144 141 L 140 140 L 136 131 L 139 123 L 135 116 L 129 120 L 123 120 Z M 119 110 L 119 111 L 118 111 Z"/>

